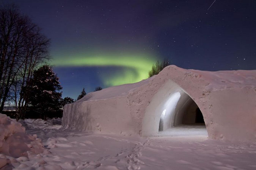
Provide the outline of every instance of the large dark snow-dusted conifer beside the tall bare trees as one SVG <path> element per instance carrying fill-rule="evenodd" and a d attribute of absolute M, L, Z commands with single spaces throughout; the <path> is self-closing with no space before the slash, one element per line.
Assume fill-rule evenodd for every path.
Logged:
<path fill-rule="evenodd" d="M 31 110 L 41 114 L 44 119 L 50 111 L 61 108 L 62 89 L 58 77 L 50 66 L 44 65 L 35 70 L 31 79 L 29 103 Z"/>

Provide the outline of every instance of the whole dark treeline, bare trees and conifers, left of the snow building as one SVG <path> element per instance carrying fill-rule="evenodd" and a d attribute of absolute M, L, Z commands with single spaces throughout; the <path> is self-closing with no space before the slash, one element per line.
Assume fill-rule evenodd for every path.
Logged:
<path fill-rule="evenodd" d="M 61 116 L 64 105 L 74 102 L 61 98 L 58 77 L 47 65 L 49 46 L 50 40 L 17 6 L 0 6 L 0 113 L 9 105 L 15 109 L 5 113 L 17 120 L 46 119 Z M 83 88 L 77 100 L 85 95 Z"/>

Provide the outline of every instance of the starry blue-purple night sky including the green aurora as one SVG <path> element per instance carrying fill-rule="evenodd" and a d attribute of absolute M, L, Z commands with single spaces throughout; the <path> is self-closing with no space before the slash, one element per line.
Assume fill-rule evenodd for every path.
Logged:
<path fill-rule="evenodd" d="M 63 97 L 146 79 L 164 58 L 187 69 L 256 69 L 256 0 L 0 2 L 17 4 L 51 39 Z"/>

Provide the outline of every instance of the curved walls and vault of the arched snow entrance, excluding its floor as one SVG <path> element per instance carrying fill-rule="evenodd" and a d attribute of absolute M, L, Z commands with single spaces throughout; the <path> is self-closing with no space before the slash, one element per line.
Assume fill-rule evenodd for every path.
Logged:
<path fill-rule="evenodd" d="M 196 120 L 197 112 L 201 112 L 198 110 L 198 105 L 184 89 L 169 80 L 152 97 L 146 108 L 142 121 L 142 136 L 155 136 L 159 131 L 181 124 L 204 124 Z"/>

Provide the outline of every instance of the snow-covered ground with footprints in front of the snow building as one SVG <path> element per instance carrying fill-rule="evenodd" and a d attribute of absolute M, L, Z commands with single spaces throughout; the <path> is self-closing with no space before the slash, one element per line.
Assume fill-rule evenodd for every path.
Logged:
<path fill-rule="evenodd" d="M 55 122 L 55 123 L 54 123 Z M 141 138 L 63 131 L 58 120 L 25 120 L 48 152 L 16 159 L 16 169 L 255 170 L 256 143 L 207 140 L 201 136 Z M 180 127 L 182 129 L 182 127 Z M 195 128 L 192 131 L 196 131 Z M 199 128 L 200 129 L 200 128 Z M 184 131 L 181 130 L 180 132 Z M 201 132 L 203 128 L 201 128 Z M 163 133 L 163 132 L 162 132 Z M 173 132 L 172 132 L 173 133 Z M 183 134 L 183 133 L 182 133 Z M 159 134 L 160 135 L 160 134 Z M 177 135 L 177 134 L 176 134 Z M 15 158 L 13 158 L 15 159 Z M 13 161 L 14 162 L 14 161 Z M 8 166 L 5 167 L 5 169 Z M 9 169 L 11 165 L 9 165 Z"/>

